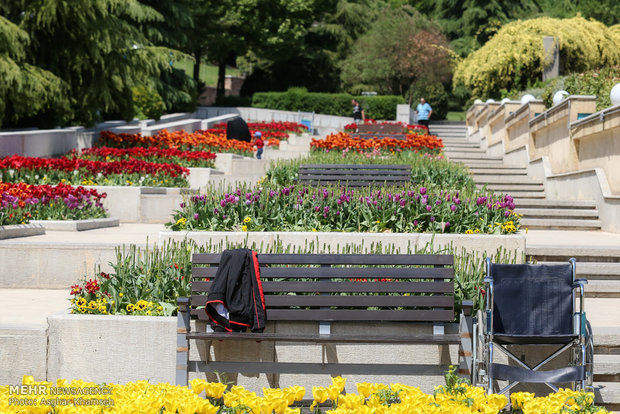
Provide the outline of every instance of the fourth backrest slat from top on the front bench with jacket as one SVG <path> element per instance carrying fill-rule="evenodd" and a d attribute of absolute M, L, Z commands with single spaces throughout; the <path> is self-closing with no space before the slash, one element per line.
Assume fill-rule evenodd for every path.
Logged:
<path fill-rule="evenodd" d="M 204 306 L 206 295 L 192 295 L 192 306 Z M 451 307 L 451 296 L 340 296 L 340 295 L 265 295 L 267 309 L 278 306 L 357 306 L 357 307 Z"/>

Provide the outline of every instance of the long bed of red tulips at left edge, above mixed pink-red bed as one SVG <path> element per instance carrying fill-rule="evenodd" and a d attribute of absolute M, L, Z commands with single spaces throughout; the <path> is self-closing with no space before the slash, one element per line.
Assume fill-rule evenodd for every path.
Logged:
<path fill-rule="evenodd" d="M 189 170 L 176 164 L 142 160 L 90 161 L 13 155 L 0 159 L 5 181 L 28 184 L 145 185 L 187 187 Z"/>

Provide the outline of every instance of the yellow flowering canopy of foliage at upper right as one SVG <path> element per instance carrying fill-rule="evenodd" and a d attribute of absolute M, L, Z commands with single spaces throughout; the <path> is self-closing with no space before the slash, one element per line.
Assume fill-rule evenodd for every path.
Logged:
<path fill-rule="evenodd" d="M 560 45 L 560 70 L 582 72 L 620 63 L 620 42 L 604 24 L 581 17 L 538 18 L 503 26 L 482 48 L 461 61 L 453 83 L 480 98 L 498 97 L 502 89 L 523 90 L 542 76 L 548 56 L 544 36 Z"/>

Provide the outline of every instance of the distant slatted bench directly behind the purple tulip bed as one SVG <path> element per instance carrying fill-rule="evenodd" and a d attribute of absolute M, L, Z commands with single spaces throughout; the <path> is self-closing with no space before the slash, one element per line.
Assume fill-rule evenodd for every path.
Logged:
<path fill-rule="evenodd" d="M 302 164 L 299 181 L 308 185 L 342 184 L 348 187 L 399 185 L 411 181 L 411 166 L 380 164 Z"/>

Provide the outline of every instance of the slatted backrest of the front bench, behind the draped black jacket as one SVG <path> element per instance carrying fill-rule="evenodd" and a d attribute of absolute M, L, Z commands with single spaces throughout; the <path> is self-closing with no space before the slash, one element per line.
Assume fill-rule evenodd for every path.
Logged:
<path fill-rule="evenodd" d="M 192 256 L 191 315 L 206 320 L 220 254 Z M 268 321 L 454 319 L 452 255 L 258 254 Z"/>

